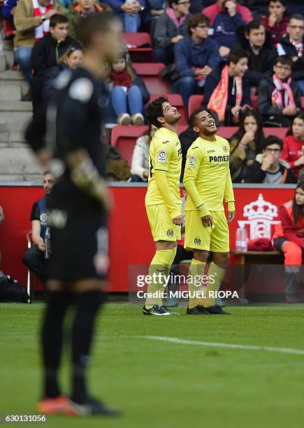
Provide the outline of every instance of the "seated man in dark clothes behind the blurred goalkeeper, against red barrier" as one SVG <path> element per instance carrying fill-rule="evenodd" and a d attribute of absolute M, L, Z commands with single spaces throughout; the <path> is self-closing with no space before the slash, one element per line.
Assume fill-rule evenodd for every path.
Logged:
<path fill-rule="evenodd" d="M 48 216 L 46 214 L 47 199 L 52 192 L 52 187 L 55 185 L 55 179 L 49 171 L 43 174 L 43 189 L 45 197 L 39 199 L 31 209 L 31 241 L 33 245 L 23 256 L 22 262 L 44 284 L 47 279 L 47 257 L 48 243 L 45 238 L 49 238 L 48 232 Z M 47 245 L 45 245 L 47 244 Z"/>

